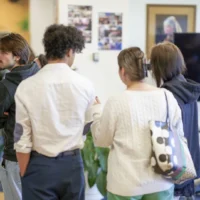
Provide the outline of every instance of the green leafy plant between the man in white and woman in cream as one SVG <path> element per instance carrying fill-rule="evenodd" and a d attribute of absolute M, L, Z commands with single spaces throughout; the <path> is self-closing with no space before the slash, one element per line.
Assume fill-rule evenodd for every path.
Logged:
<path fill-rule="evenodd" d="M 108 166 L 109 148 L 99 148 L 94 146 L 91 132 L 86 135 L 85 146 L 82 149 L 82 158 L 89 187 L 95 184 L 102 194 L 106 197 L 106 176 Z"/>

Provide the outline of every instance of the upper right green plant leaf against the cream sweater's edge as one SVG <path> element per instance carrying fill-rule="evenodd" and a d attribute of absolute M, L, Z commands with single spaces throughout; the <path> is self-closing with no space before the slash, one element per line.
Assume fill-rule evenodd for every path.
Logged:
<path fill-rule="evenodd" d="M 108 169 L 108 154 L 109 154 L 109 149 L 108 148 L 95 148 L 95 151 L 97 153 L 97 157 L 101 166 L 101 169 L 104 172 L 107 172 Z"/>

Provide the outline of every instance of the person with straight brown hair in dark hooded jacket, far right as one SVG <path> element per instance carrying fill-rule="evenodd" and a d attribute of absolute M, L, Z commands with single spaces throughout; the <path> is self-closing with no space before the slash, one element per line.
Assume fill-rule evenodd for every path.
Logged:
<path fill-rule="evenodd" d="M 169 42 L 157 44 L 151 52 L 151 65 L 157 86 L 172 92 L 176 98 L 183 120 L 184 135 L 195 165 L 197 178 L 200 177 L 200 147 L 198 134 L 197 100 L 200 96 L 200 84 L 185 79 L 184 58 L 179 48 Z M 161 81 L 164 81 L 161 84 Z M 175 196 L 193 199 L 195 194 L 194 180 L 175 185 Z"/>

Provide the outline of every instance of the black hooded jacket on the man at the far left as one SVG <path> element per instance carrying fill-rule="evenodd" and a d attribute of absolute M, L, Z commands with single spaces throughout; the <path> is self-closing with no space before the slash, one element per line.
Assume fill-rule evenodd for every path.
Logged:
<path fill-rule="evenodd" d="M 34 75 L 39 70 L 36 63 L 16 67 L 6 74 L 5 79 L 0 81 L 0 128 L 4 128 L 4 158 L 17 161 L 14 151 L 14 127 L 15 127 L 15 101 L 14 95 L 17 86 L 24 79 Z M 5 116 L 4 112 L 9 115 Z"/>

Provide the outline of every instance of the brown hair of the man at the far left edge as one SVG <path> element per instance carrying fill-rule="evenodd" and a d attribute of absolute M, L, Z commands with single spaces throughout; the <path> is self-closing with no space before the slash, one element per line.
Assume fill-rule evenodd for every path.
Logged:
<path fill-rule="evenodd" d="M 0 50 L 11 52 L 14 56 L 19 56 L 19 64 L 27 64 L 30 57 L 28 42 L 18 33 L 6 33 L 0 37 Z"/>

